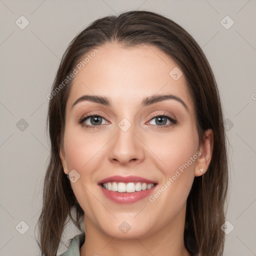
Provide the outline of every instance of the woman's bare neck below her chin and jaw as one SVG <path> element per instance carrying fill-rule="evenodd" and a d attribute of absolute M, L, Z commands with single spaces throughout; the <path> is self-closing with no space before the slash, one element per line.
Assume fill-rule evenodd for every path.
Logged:
<path fill-rule="evenodd" d="M 86 216 L 85 242 L 80 256 L 140 255 L 140 256 L 190 256 L 183 240 L 185 207 L 171 222 L 150 235 L 120 239 L 107 235 L 95 227 Z"/>

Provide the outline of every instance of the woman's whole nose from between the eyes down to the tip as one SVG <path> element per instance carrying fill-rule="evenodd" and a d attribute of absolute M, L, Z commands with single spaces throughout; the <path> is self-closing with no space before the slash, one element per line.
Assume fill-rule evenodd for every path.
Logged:
<path fill-rule="evenodd" d="M 143 158 L 141 142 L 135 135 L 137 129 L 133 119 L 129 119 L 122 118 L 117 123 L 116 134 L 109 148 L 109 160 L 117 160 L 121 164 L 135 159 L 141 161 Z"/>

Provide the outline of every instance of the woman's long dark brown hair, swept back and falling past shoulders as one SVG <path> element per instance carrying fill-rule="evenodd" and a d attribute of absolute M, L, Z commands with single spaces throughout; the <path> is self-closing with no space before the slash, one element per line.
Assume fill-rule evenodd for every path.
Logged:
<path fill-rule="evenodd" d="M 170 56 L 185 76 L 196 113 L 199 142 L 204 130 L 213 130 L 213 151 L 208 170 L 194 178 L 187 198 L 184 242 L 191 255 L 223 254 L 225 198 L 228 185 L 226 135 L 216 81 L 201 48 L 180 25 L 149 11 L 127 11 L 93 21 L 68 45 L 48 94 L 50 160 L 44 178 L 43 207 L 38 219 L 41 255 L 56 255 L 69 217 L 80 230 L 84 212 L 78 204 L 59 158 L 63 141 L 65 106 L 72 79 L 63 83 L 85 54 L 115 41 L 124 47 L 154 45 Z M 62 86 L 60 84 L 62 83 Z M 74 210 L 75 216 L 71 214 Z"/>

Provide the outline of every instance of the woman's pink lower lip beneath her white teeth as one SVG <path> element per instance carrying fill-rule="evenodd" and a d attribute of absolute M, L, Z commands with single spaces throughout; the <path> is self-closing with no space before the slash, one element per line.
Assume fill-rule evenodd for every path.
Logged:
<path fill-rule="evenodd" d="M 154 188 L 157 186 L 157 184 L 155 184 L 150 189 L 135 191 L 135 192 L 131 192 L 131 193 L 128 193 L 128 192 L 119 193 L 119 192 L 107 190 L 104 187 L 102 187 L 101 185 L 99 185 L 99 186 L 100 186 L 103 194 L 110 200 L 112 200 L 116 203 L 133 203 L 133 202 L 137 202 L 137 201 L 145 198 L 146 196 L 149 196 L 152 193 L 152 191 L 154 190 Z"/>

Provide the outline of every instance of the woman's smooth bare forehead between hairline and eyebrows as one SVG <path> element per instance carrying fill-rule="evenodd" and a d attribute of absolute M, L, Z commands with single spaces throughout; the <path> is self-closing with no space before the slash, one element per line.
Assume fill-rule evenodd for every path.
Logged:
<path fill-rule="evenodd" d="M 83 94 L 102 95 L 112 105 L 139 105 L 141 99 L 154 94 L 180 97 L 193 112 L 193 103 L 180 68 L 164 52 L 153 45 L 123 47 L 107 43 L 96 47 L 97 53 L 87 52 L 81 70 L 74 76 L 67 108 Z M 80 62 L 81 63 L 81 62 Z M 172 71 L 173 70 L 173 71 Z M 178 76 L 173 76 L 177 73 Z M 174 77 L 174 78 L 173 78 Z"/>

